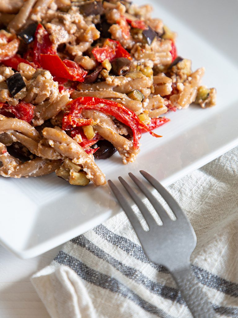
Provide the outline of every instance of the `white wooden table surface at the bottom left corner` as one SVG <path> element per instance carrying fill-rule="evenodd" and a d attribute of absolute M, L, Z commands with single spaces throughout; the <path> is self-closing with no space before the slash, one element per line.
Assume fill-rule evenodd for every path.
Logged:
<path fill-rule="evenodd" d="M 33 259 L 19 259 L 0 245 L 0 318 L 50 318 L 30 282 L 61 246 Z"/>

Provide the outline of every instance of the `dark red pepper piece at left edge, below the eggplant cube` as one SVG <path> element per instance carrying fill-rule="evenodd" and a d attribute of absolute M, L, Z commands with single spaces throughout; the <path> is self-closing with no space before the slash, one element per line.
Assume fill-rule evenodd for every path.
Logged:
<path fill-rule="evenodd" d="M 16 106 L 9 105 L 8 103 L 0 103 L 0 114 L 11 117 L 18 118 L 30 123 L 34 117 L 35 106 L 30 103 L 25 103 L 21 101 Z"/>

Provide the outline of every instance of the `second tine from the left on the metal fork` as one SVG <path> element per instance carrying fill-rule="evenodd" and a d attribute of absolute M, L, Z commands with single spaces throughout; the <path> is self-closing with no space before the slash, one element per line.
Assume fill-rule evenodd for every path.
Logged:
<path fill-rule="evenodd" d="M 155 219 L 152 217 L 150 211 L 147 209 L 147 207 L 142 202 L 142 200 L 138 197 L 136 192 L 134 190 L 132 190 L 132 188 L 129 186 L 129 184 L 122 177 L 118 177 L 118 179 L 120 180 L 123 187 L 127 190 L 129 195 L 132 197 L 132 199 L 134 200 L 134 202 L 138 206 L 138 208 L 141 211 L 144 219 L 146 220 L 146 223 L 148 224 L 149 228 L 151 228 L 153 225 L 156 225 Z"/>

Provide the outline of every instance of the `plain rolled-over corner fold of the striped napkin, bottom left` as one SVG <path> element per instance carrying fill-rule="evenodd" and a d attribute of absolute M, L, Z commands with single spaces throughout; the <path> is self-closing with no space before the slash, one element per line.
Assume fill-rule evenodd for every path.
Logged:
<path fill-rule="evenodd" d="M 89 294 L 77 274 L 62 265 L 43 268 L 31 282 L 52 318 L 96 318 Z"/>

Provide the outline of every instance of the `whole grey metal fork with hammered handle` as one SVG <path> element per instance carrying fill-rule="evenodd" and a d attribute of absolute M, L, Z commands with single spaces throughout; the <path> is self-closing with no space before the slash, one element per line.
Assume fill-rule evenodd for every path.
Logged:
<path fill-rule="evenodd" d="M 129 173 L 131 179 L 145 194 L 161 218 L 163 225 L 157 225 L 141 198 L 122 177 L 118 177 L 149 226 L 149 231 L 144 231 L 126 198 L 111 180 L 108 181 L 108 184 L 129 218 L 145 254 L 152 262 L 163 265 L 169 270 L 193 317 L 216 317 L 212 305 L 203 293 L 202 288 L 198 285 L 190 265 L 190 256 L 196 246 L 196 235 L 192 225 L 169 192 L 149 173 L 143 170 L 140 173 L 167 202 L 176 217 L 175 221 L 169 217 L 168 213 L 148 188 L 136 176 Z"/>

